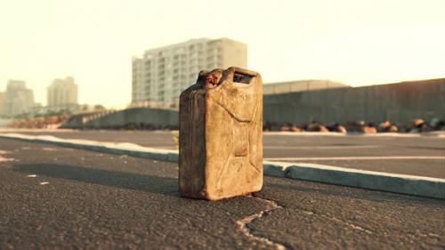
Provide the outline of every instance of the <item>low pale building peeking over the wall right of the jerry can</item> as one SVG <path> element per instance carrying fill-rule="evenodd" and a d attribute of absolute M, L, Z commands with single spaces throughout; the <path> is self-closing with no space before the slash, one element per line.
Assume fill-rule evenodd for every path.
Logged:
<path fill-rule="evenodd" d="M 298 80 L 289 82 L 269 83 L 263 85 L 263 94 L 295 93 L 313 90 L 351 87 L 328 80 Z"/>

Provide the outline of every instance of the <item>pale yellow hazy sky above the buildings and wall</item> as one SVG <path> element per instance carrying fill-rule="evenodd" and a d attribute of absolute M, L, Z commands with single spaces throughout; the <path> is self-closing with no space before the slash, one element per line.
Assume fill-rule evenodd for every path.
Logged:
<path fill-rule="evenodd" d="M 248 45 L 265 82 L 354 86 L 445 77 L 445 0 L 1 0 L 0 91 L 75 77 L 79 101 L 131 101 L 131 58 L 198 37 Z"/>

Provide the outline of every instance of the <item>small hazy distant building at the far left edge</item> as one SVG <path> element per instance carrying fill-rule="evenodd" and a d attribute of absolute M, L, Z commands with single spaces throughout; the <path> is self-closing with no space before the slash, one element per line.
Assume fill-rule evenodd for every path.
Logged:
<path fill-rule="evenodd" d="M 4 93 L 4 115 L 16 116 L 28 113 L 34 107 L 34 93 L 25 82 L 9 80 Z"/>

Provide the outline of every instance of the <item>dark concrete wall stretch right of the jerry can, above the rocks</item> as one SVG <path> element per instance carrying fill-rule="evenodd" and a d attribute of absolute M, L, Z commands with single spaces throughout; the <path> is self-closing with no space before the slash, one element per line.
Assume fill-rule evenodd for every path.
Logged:
<path fill-rule="evenodd" d="M 445 78 L 356 88 L 264 95 L 264 122 L 325 124 L 445 119 Z"/>

